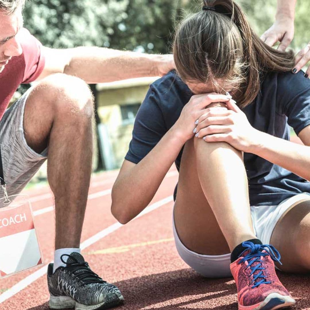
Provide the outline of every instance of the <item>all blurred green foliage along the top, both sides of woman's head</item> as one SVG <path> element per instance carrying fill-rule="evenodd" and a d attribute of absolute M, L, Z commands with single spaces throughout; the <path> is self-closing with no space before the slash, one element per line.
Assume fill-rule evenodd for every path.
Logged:
<path fill-rule="evenodd" d="M 274 22 L 277 0 L 237 0 L 261 35 Z M 55 48 L 102 46 L 148 53 L 171 50 L 174 28 L 200 0 L 28 0 L 24 25 Z M 294 50 L 310 40 L 310 1 L 298 0 Z"/>

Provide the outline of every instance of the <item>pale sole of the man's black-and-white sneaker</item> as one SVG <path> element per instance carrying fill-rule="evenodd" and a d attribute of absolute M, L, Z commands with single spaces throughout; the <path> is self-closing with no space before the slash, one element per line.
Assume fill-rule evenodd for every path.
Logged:
<path fill-rule="evenodd" d="M 67 296 L 50 296 L 50 300 L 48 302 L 48 307 L 50 309 L 72 309 L 75 310 L 104 310 L 116 307 L 123 303 L 124 297 L 121 295 L 118 297 L 116 294 L 113 294 L 116 298 L 110 298 L 110 300 L 106 300 L 104 303 L 99 303 L 97 305 L 83 305 L 82 303 L 78 303 L 73 300 L 71 297 Z M 114 297 L 114 296 L 113 296 Z"/>

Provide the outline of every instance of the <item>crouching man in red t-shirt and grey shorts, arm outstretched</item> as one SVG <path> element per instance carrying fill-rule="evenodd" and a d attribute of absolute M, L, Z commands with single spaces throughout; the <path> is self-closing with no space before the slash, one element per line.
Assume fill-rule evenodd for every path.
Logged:
<path fill-rule="evenodd" d="M 86 83 L 163 75 L 174 63 L 170 55 L 43 47 L 23 28 L 23 5 L 24 0 L 0 0 L 0 141 L 7 192 L 19 193 L 48 159 L 56 216 L 49 307 L 106 309 L 123 296 L 91 270 L 79 248 L 93 150 L 93 98 Z M 17 87 L 33 81 L 40 82 L 6 110 Z"/>

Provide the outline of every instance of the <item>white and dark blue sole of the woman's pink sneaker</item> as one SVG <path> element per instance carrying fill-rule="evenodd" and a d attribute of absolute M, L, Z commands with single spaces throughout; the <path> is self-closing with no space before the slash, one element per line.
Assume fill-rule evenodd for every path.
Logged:
<path fill-rule="evenodd" d="M 290 307 L 295 300 L 290 296 L 283 296 L 278 293 L 269 294 L 263 302 L 256 303 L 252 306 L 242 306 L 238 303 L 239 310 L 274 310 Z"/>

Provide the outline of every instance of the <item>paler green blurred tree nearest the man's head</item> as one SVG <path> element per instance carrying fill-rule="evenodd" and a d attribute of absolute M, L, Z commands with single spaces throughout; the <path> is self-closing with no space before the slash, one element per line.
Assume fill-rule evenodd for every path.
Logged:
<path fill-rule="evenodd" d="M 127 5 L 128 0 L 32 0 L 24 8 L 24 25 L 48 47 L 105 46 Z"/>

